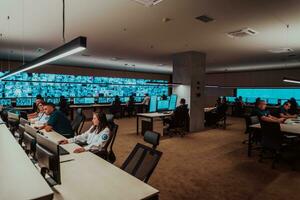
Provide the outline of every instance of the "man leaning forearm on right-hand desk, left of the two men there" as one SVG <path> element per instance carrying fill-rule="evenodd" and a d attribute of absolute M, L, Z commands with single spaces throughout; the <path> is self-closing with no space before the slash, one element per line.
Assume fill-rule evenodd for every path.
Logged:
<path fill-rule="evenodd" d="M 259 120 L 265 122 L 283 123 L 286 120 L 285 118 L 277 118 L 272 116 L 270 112 L 266 110 L 266 107 L 267 107 L 266 102 L 264 100 L 260 100 L 253 114 L 256 115 L 259 118 Z"/>

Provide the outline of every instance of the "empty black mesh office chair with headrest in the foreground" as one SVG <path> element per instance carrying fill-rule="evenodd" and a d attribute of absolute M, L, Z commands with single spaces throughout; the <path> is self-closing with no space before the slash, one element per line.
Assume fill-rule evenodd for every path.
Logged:
<path fill-rule="evenodd" d="M 156 150 L 159 139 L 159 133 L 147 131 L 144 141 L 152 144 L 152 148 L 137 143 L 121 169 L 147 183 L 162 156 L 162 152 Z"/>

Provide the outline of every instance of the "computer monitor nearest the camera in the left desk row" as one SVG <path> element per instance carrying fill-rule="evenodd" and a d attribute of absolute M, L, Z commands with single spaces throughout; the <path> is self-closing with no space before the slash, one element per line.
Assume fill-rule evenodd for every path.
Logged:
<path fill-rule="evenodd" d="M 41 134 L 36 135 L 36 142 L 35 158 L 41 168 L 41 174 L 49 185 L 61 184 L 59 145 Z"/>

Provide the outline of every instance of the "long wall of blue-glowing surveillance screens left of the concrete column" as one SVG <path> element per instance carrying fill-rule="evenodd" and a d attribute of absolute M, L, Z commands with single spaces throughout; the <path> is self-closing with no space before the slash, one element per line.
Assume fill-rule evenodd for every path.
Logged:
<path fill-rule="evenodd" d="M 0 72 L 0 76 L 3 72 Z M 75 76 L 65 74 L 20 73 L 0 82 L 0 98 L 35 97 L 128 97 L 163 94 L 167 85 L 150 85 L 149 81 L 167 83 L 166 80 Z"/>

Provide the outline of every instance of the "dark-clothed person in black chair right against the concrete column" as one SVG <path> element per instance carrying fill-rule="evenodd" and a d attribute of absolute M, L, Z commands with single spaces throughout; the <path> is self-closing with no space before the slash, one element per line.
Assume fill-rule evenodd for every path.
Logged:
<path fill-rule="evenodd" d="M 167 131 L 170 131 L 171 128 L 176 128 L 181 125 L 185 126 L 188 131 L 189 109 L 188 105 L 185 104 L 184 98 L 180 99 L 180 105 L 175 108 L 174 113 L 171 115 L 171 118 L 164 120 L 164 123 L 169 124 Z"/>

